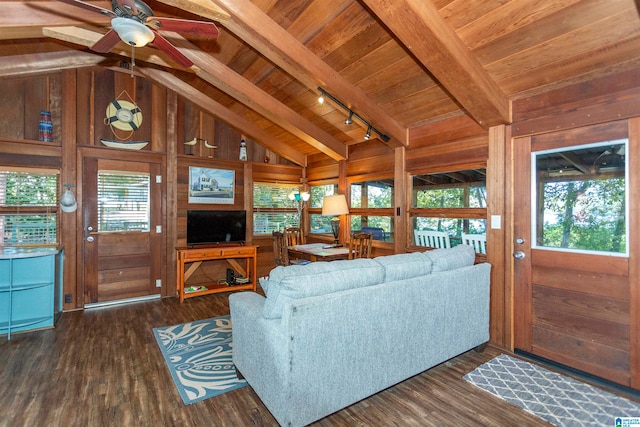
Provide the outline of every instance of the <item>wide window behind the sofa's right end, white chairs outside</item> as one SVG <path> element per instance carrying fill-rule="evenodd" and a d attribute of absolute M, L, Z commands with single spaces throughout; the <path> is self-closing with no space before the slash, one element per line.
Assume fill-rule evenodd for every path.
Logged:
<path fill-rule="evenodd" d="M 486 170 L 469 169 L 414 175 L 411 179 L 411 227 L 444 233 L 450 246 L 462 243 L 463 234 L 486 236 Z"/>

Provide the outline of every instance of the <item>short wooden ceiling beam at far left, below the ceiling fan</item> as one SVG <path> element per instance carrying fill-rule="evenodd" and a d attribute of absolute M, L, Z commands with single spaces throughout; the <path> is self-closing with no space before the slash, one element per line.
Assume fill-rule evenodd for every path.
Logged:
<path fill-rule="evenodd" d="M 0 76 L 26 76 L 68 68 L 104 65 L 105 58 L 80 51 L 45 52 L 16 56 L 0 56 Z"/>

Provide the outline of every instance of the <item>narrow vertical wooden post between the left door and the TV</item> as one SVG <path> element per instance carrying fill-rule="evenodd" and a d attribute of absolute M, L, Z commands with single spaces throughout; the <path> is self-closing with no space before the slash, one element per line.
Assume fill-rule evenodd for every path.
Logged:
<path fill-rule="evenodd" d="M 173 91 L 165 91 L 165 128 L 166 128 L 166 172 L 164 182 L 166 183 L 166 198 L 164 203 L 165 209 L 165 226 L 166 226 L 166 249 L 167 249 L 167 266 L 166 281 L 163 282 L 162 295 L 175 296 L 178 291 L 176 283 L 176 250 L 178 247 L 178 150 L 181 150 L 181 142 L 178 135 L 178 96 Z M 182 236 L 186 236 L 186 220 L 183 219 Z"/>

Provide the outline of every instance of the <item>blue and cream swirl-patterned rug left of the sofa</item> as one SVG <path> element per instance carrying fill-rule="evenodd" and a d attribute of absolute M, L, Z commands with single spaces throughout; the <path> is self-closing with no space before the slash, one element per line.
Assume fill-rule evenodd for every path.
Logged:
<path fill-rule="evenodd" d="M 247 385 L 231 361 L 229 316 L 154 328 L 153 334 L 185 405 Z"/>

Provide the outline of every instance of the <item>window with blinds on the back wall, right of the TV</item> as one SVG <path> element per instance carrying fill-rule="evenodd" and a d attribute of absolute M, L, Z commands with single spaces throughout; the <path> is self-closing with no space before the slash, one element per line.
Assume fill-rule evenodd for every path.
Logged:
<path fill-rule="evenodd" d="M 253 234 L 271 234 L 287 227 L 298 227 L 296 202 L 289 195 L 300 191 L 297 184 L 254 183 Z"/>

